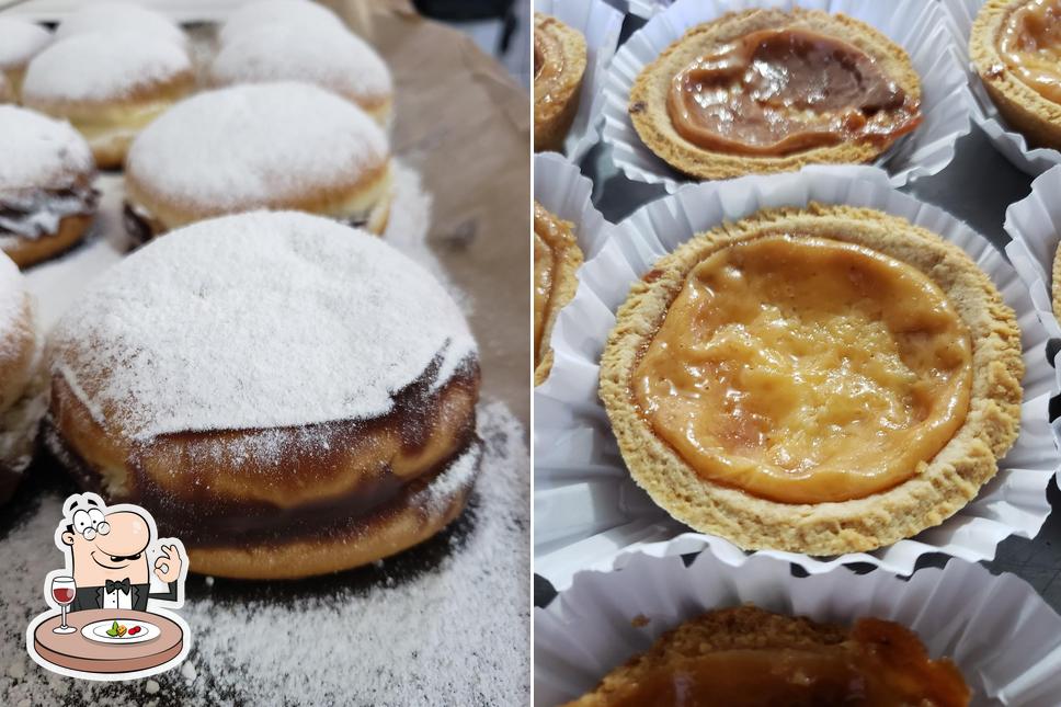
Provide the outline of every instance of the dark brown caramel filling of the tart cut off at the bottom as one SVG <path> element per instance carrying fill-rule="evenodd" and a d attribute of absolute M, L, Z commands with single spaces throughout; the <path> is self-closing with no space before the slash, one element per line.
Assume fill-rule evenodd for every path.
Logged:
<path fill-rule="evenodd" d="M 672 661 L 608 705 L 965 707 L 969 698 L 954 663 L 932 660 L 909 629 L 864 618 L 843 643 L 723 650 Z"/>

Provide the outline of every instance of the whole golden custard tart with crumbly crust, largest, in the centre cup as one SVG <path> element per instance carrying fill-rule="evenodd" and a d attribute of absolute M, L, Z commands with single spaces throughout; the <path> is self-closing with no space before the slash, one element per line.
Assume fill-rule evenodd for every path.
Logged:
<path fill-rule="evenodd" d="M 630 289 L 601 397 L 634 479 L 744 549 L 871 550 L 943 523 L 1016 440 L 1014 312 L 952 243 L 872 210 L 767 209 Z"/>

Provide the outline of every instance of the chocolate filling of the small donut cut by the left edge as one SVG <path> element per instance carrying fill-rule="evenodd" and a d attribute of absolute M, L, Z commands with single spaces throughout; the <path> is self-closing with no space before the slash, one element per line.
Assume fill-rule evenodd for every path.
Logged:
<path fill-rule="evenodd" d="M 100 192 L 90 183 L 65 189 L 28 189 L 0 194 L 0 235 L 21 238 L 50 236 L 67 216 L 95 212 Z"/>

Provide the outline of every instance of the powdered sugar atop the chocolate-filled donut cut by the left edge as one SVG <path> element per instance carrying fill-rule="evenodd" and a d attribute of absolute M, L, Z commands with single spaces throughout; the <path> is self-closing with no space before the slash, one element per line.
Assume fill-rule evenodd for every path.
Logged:
<path fill-rule="evenodd" d="M 0 105 L 0 192 L 61 189 L 93 170 L 92 151 L 69 123 Z"/>

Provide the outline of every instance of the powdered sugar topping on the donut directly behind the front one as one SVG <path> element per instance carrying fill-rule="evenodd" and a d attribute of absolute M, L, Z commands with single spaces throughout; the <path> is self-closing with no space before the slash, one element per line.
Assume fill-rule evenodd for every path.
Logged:
<path fill-rule="evenodd" d="M 309 84 L 262 83 L 174 105 L 133 142 L 126 172 L 189 208 L 235 212 L 353 184 L 388 155 L 383 129 L 349 101 Z"/>

